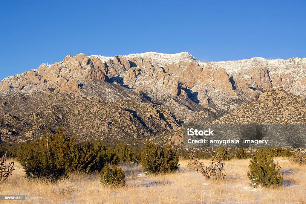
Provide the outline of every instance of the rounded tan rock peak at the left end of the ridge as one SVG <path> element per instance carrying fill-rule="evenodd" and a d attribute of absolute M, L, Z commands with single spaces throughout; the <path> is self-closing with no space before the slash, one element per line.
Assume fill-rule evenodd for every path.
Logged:
<path fill-rule="evenodd" d="M 36 70 L 5 78 L 0 83 L 0 91 L 10 88 L 23 90 L 24 93 L 29 90 L 46 89 L 80 91 L 81 86 L 78 81 L 82 78 L 106 81 L 103 70 L 96 69 L 87 56 L 84 54 L 68 55 L 62 62 L 55 62 L 53 65 L 42 64 Z"/>

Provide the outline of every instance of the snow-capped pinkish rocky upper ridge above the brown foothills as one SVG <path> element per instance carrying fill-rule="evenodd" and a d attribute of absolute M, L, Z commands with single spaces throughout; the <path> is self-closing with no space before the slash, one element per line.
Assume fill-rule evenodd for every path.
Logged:
<path fill-rule="evenodd" d="M 236 104 L 254 100 L 270 88 L 303 95 L 305 67 L 305 58 L 200 62 L 188 52 L 114 57 L 78 54 L 7 77 L 1 81 L 0 90 L 19 89 L 28 94 L 33 90 L 53 89 L 81 92 L 86 97 L 88 94 L 81 90 L 83 85 L 99 80 L 133 89 L 152 102 L 170 104 L 168 108 L 180 105 L 188 109 L 188 105 L 196 103 L 202 111 L 218 115 Z M 173 100 L 176 97 L 185 102 Z M 186 114 L 175 114 L 188 122 Z"/>

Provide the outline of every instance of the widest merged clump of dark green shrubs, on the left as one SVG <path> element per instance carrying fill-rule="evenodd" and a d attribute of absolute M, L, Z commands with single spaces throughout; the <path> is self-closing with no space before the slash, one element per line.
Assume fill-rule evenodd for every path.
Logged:
<path fill-rule="evenodd" d="M 120 159 L 102 141 L 76 142 L 61 127 L 55 134 L 47 130 L 39 142 L 21 145 L 18 161 L 28 178 L 56 181 L 67 172 L 100 172 L 106 163 L 118 164 Z"/>

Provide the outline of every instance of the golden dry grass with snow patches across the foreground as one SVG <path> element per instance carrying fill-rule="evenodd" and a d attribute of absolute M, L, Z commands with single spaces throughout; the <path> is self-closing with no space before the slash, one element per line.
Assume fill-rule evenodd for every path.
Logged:
<path fill-rule="evenodd" d="M 227 178 L 219 184 L 189 170 L 186 161 L 180 162 L 177 173 L 151 176 L 145 176 L 140 165 L 122 165 L 126 187 L 113 190 L 101 186 L 99 174 L 71 175 L 57 184 L 31 182 L 16 162 L 13 176 L 0 191 L 1 195 L 26 196 L 25 201 L 10 203 L 306 203 L 306 165 L 276 160 L 284 176 L 284 185 L 278 189 L 250 187 L 246 175 L 249 161 L 234 160 Z"/>

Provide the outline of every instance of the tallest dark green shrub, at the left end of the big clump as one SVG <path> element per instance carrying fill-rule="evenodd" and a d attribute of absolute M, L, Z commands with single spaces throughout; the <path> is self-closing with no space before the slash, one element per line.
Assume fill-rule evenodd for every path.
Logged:
<path fill-rule="evenodd" d="M 74 140 L 75 137 L 68 137 L 59 127 L 55 134 L 50 134 L 47 130 L 39 142 L 21 145 L 17 159 L 23 166 L 26 177 L 57 181 L 67 176 L 67 158 Z"/>

